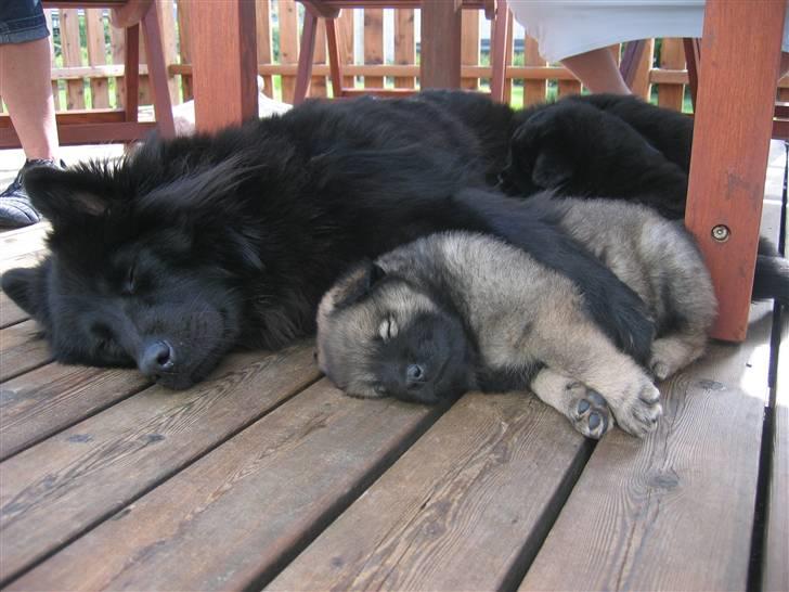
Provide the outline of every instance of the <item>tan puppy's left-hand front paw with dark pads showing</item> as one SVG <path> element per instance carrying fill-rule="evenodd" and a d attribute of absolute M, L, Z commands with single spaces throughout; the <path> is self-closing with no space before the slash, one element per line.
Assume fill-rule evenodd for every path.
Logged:
<path fill-rule="evenodd" d="M 544 368 L 530 386 L 540 400 L 564 414 L 587 438 L 599 440 L 613 427 L 613 414 L 603 396 L 574 378 Z"/>

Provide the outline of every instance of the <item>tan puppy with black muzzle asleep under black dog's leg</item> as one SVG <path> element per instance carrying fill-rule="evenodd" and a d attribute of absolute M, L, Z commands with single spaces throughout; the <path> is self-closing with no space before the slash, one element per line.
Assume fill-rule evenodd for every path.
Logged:
<path fill-rule="evenodd" d="M 568 278 L 495 237 L 448 232 L 335 284 L 318 313 L 321 370 L 352 396 L 428 403 L 531 388 L 585 436 L 615 419 L 651 432 L 662 410 L 649 373 L 662 379 L 700 357 L 715 316 L 701 256 L 680 223 L 647 207 L 536 198 L 647 304 L 658 326 L 648 369 L 597 329 Z"/>

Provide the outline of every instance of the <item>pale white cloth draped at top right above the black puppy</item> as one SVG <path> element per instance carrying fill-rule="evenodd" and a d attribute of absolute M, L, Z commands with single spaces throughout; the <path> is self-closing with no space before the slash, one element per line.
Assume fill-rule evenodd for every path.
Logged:
<path fill-rule="evenodd" d="M 704 0 L 509 0 L 508 4 L 548 62 L 637 39 L 701 37 L 704 18 Z M 789 51 L 788 17 L 789 13 L 784 17 L 784 51 Z"/>

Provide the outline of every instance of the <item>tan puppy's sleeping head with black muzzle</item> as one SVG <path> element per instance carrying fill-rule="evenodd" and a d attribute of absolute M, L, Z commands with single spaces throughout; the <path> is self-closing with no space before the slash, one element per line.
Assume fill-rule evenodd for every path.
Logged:
<path fill-rule="evenodd" d="M 372 262 L 327 295 L 319 363 L 351 396 L 438 403 L 474 388 L 474 347 L 456 314 Z"/>

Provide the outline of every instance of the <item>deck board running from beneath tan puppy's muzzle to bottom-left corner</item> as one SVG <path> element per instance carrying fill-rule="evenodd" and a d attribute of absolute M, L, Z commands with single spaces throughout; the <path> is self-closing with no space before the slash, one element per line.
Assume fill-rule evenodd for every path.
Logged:
<path fill-rule="evenodd" d="M 254 589 L 439 413 L 324 379 L 9 589 Z"/>

